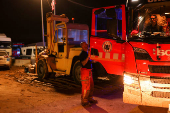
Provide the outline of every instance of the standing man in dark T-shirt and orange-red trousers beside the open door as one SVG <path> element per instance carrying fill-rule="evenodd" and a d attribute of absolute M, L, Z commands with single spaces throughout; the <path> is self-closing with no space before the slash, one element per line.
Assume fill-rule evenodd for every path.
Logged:
<path fill-rule="evenodd" d="M 93 99 L 94 82 L 92 76 L 92 63 L 95 61 L 90 60 L 90 52 L 88 51 L 88 44 L 81 42 L 82 52 L 80 53 L 81 68 L 81 84 L 82 84 L 82 95 L 81 104 L 82 106 L 91 106 L 91 103 L 97 103 L 97 100 Z"/>

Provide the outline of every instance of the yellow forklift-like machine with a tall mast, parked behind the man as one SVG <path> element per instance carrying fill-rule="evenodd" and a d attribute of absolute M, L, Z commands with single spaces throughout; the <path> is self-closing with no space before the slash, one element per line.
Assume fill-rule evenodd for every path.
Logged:
<path fill-rule="evenodd" d="M 74 80 L 80 83 L 80 43 L 88 43 L 89 28 L 85 24 L 68 22 L 65 15 L 47 15 L 47 49 L 37 56 L 39 79 L 56 73 L 72 75 Z"/>

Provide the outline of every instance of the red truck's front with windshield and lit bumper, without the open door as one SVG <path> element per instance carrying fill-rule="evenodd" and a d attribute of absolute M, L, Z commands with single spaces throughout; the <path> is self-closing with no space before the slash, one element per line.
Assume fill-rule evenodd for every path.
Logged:
<path fill-rule="evenodd" d="M 131 4 L 127 44 L 131 52 L 126 53 L 131 55 L 126 59 L 134 60 L 125 63 L 123 100 L 168 108 L 170 1 L 148 0 L 141 6 Z M 131 66 L 135 68 L 131 69 Z"/>

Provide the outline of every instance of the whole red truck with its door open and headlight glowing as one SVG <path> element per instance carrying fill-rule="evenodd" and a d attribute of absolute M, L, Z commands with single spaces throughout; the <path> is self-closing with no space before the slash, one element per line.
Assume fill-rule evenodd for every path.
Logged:
<path fill-rule="evenodd" d="M 95 8 L 91 27 L 91 59 L 101 73 L 124 76 L 123 101 L 168 108 L 170 1 L 127 0 Z"/>

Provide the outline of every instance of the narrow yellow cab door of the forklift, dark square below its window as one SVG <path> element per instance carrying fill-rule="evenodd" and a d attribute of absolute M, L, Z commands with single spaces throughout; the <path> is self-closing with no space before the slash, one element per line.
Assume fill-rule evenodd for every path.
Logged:
<path fill-rule="evenodd" d="M 65 23 L 56 25 L 55 28 L 55 50 L 58 51 L 56 61 L 56 68 L 60 71 L 66 70 L 67 59 L 67 28 Z"/>

